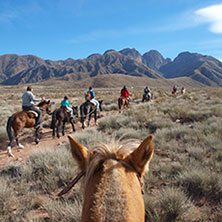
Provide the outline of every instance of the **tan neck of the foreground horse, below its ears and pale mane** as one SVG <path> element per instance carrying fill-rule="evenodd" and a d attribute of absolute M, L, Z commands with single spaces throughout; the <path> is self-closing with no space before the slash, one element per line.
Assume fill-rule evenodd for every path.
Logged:
<path fill-rule="evenodd" d="M 108 160 L 85 185 L 83 222 L 144 221 L 141 186 L 134 171 Z"/>

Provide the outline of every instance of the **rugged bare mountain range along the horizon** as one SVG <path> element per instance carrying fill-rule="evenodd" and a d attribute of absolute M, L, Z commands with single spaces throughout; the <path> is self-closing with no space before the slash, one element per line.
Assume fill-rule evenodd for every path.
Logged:
<path fill-rule="evenodd" d="M 190 78 L 206 86 L 222 86 L 222 63 L 214 57 L 182 52 L 174 60 L 158 51 L 141 55 L 136 49 L 107 50 L 86 59 L 44 60 L 34 55 L 0 56 L 0 84 L 18 85 L 46 80 L 83 80 L 103 75 L 151 79 Z"/>

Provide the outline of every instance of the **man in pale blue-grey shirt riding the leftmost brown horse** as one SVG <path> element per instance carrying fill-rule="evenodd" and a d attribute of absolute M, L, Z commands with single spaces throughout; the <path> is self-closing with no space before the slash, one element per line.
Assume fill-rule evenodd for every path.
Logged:
<path fill-rule="evenodd" d="M 24 92 L 22 95 L 22 109 L 23 111 L 33 110 L 35 111 L 38 116 L 36 118 L 35 128 L 42 128 L 41 122 L 42 122 L 42 112 L 40 109 L 35 107 L 34 102 L 39 102 L 41 100 L 45 100 L 45 98 L 35 98 L 33 93 L 33 89 L 31 86 L 27 87 L 27 91 Z"/>

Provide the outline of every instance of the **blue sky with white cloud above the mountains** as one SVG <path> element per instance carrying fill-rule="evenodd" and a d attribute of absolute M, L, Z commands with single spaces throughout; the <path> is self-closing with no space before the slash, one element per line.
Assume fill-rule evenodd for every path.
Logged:
<path fill-rule="evenodd" d="M 0 0 L 0 55 L 64 60 L 124 48 L 222 61 L 222 1 Z"/>

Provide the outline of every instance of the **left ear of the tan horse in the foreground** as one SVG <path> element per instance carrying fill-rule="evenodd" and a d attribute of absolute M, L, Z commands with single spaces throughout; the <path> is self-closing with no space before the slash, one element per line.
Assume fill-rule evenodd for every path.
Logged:
<path fill-rule="evenodd" d="M 81 170 L 85 169 L 88 163 L 88 149 L 78 143 L 73 137 L 68 136 L 73 158 L 78 162 Z"/>

